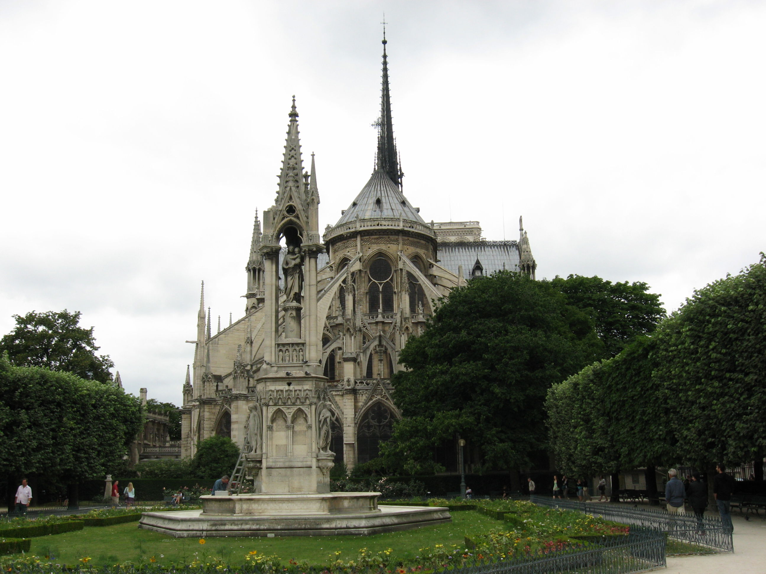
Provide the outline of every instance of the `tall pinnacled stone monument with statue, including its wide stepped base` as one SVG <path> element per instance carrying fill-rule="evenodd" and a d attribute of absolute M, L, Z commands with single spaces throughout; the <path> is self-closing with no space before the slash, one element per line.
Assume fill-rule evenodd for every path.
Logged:
<path fill-rule="evenodd" d="M 322 375 L 316 280 L 317 256 L 324 248 L 313 161 L 309 183 L 302 173 L 297 117 L 293 99 L 277 200 L 264 212 L 260 246 L 264 361 L 250 390 L 241 460 L 232 476 L 240 482 L 250 477 L 254 492 L 203 496 L 203 510 L 144 513 L 142 528 L 190 537 L 316 536 L 451 520 L 446 508 L 378 507 L 378 492 L 330 492 L 334 399 Z"/>

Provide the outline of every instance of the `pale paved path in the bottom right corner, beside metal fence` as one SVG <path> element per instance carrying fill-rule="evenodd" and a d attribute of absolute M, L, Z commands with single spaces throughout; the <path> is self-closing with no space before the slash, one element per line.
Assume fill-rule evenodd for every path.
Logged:
<path fill-rule="evenodd" d="M 668 574 L 766 574 L 766 517 L 732 514 L 734 553 L 668 556 Z"/>

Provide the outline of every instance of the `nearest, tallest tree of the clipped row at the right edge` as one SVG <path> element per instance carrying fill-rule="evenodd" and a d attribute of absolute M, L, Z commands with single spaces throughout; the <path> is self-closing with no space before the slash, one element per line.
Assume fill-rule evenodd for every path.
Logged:
<path fill-rule="evenodd" d="M 694 293 L 664 325 L 655 377 L 677 405 L 678 449 L 698 468 L 766 452 L 766 256 Z"/>

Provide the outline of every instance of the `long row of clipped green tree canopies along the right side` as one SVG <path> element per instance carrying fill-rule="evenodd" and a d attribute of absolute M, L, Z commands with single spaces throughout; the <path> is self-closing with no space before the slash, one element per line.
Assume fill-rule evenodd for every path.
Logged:
<path fill-rule="evenodd" d="M 766 257 L 548 393 L 566 470 L 739 464 L 766 452 Z M 562 429 L 571 441 L 558 439 Z"/>

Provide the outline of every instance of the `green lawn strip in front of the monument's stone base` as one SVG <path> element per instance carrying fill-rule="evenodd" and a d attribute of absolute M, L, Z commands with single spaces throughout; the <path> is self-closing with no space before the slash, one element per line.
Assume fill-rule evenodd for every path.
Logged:
<path fill-rule="evenodd" d="M 502 527 L 499 520 L 468 510 L 453 513 L 451 523 L 372 536 L 207 538 L 205 544 L 200 544 L 197 538 L 170 538 L 166 534 L 139 529 L 136 523 L 124 523 L 34 538 L 31 553 L 51 556 L 55 562 L 64 564 L 76 564 L 80 558 L 88 556 L 92 566 L 126 560 L 148 562 L 152 556 L 158 563 L 168 565 L 189 563 L 205 556 L 218 556 L 232 565 L 239 565 L 245 562 L 245 554 L 257 550 L 259 554 L 276 554 L 285 563 L 289 559 L 306 559 L 311 564 L 329 564 L 337 558 L 355 558 L 358 550 L 365 547 L 373 552 L 391 548 L 394 556 L 414 558 L 424 546 L 463 546 L 466 533 L 485 533 L 498 527 Z M 341 555 L 336 556 L 336 551 Z"/>

